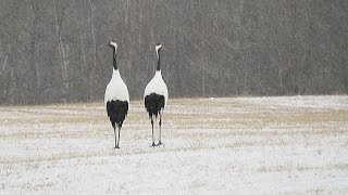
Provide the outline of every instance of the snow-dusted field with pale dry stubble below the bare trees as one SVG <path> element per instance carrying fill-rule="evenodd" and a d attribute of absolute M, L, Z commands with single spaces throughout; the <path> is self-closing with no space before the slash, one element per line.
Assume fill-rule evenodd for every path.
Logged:
<path fill-rule="evenodd" d="M 164 112 L 165 146 L 150 147 L 132 102 L 113 150 L 102 103 L 0 107 L 0 194 L 348 194 L 348 96 L 170 100 Z"/>

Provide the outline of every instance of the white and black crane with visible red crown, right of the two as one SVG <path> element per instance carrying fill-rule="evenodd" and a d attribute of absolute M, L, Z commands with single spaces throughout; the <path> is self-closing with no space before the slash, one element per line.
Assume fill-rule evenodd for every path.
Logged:
<path fill-rule="evenodd" d="M 151 79 L 151 81 L 145 88 L 145 92 L 144 92 L 145 107 L 149 113 L 149 117 L 152 126 L 152 145 L 151 146 L 153 147 L 163 144 L 161 142 L 162 113 L 167 102 L 167 88 L 165 82 L 163 81 L 162 74 L 161 74 L 161 48 L 162 48 L 161 43 L 156 44 L 156 53 L 158 56 L 156 74 Z M 160 115 L 159 143 L 154 144 L 153 117 L 156 117 L 157 119 L 159 115 Z"/>

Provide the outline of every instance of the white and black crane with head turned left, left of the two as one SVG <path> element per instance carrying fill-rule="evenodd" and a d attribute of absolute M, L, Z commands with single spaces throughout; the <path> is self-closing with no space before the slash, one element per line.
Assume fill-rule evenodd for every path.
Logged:
<path fill-rule="evenodd" d="M 110 42 L 110 47 L 113 49 L 113 69 L 112 78 L 107 86 L 104 103 L 115 134 L 115 148 L 120 148 L 120 131 L 128 113 L 129 93 L 117 67 L 117 44 L 115 42 Z M 116 136 L 116 127 L 119 130 L 119 139 Z"/>

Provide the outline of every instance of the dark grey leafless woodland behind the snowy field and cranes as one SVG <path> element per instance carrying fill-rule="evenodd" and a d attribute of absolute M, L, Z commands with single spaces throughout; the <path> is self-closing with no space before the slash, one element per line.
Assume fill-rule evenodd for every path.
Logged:
<path fill-rule="evenodd" d="M 348 92 L 347 0 L 1 0 L 0 104 L 101 101 L 110 40 L 132 100 L 158 41 L 171 98 Z"/>

